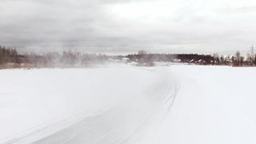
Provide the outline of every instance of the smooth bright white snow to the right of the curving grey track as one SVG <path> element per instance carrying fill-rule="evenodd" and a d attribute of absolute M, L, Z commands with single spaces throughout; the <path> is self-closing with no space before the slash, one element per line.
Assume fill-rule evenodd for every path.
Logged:
<path fill-rule="evenodd" d="M 139 143 L 253 144 L 253 67 L 171 66 L 181 87 L 168 117 Z"/>

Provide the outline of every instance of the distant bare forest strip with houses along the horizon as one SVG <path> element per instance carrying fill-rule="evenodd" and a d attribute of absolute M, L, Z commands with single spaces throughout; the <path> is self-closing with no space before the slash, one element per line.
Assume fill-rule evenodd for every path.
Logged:
<path fill-rule="evenodd" d="M 0 68 L 40 68 L 40 67 L 83 67 L 105 64 L 109 62 L 133 62 L 137 66 L 154 66 L 155 62 L 181 62 L 198 65 L 232 65 L 254 66 L 256 59 L 252 55 L 241 56 L 239 51 L 235 55 L 197 55 L 197 54 L 148 54 L 139 50 L 133 55 L 103 55 L 83 54 L 79 51 L 67 50 L 62 54 L 49 52 L 43 55 L 19 54 L 16 49 L 0 46 Z"/>

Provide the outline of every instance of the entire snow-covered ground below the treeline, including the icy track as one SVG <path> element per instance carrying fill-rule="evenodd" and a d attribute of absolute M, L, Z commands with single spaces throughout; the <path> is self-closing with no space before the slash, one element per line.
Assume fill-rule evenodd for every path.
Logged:
<path fill-rule="evenodd" d="M 255 143 L 253 67 L 0 71 L 0 143 Z"/>

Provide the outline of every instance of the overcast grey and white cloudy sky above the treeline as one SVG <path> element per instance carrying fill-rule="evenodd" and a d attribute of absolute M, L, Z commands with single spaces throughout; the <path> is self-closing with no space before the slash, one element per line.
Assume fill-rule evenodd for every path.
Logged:
<path fill-rule="evenodd" d="M 246 54 L 256 1 L 0 0 L 0 32 L 20 52 Z"/>

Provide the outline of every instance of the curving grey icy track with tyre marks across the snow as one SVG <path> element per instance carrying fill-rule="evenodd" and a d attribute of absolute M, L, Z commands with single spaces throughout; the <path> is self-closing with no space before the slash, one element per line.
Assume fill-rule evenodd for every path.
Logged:
<path fill-rule="evenodd" d="M 165 118 L 179 89 L 179 84 L 170 77 L 166 67 L 145 70 L 153 72 L 156 79 L 141 94 L 104 108 L 102 112 L 87 116 L 33 144 L 128 144 L 139 140 L 147 130 L 152 129 L 152 124 Z"/>

